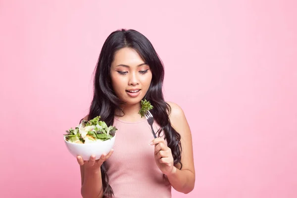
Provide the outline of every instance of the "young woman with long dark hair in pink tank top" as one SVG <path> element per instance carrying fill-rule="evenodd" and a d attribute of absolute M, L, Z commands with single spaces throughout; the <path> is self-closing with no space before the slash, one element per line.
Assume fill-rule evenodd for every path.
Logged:
<path fill-rule="evenodd" d="M 144 35 L 122 29 L 108 36 L 84 119 L 100 115 L 118 130 L 114 148 L 100 159 L 77 156 L 83 198 L 171 198 L 171 187 L 185 194 L 194 189 L 190 127 L 183 110 L 164 101 L 163 79 L 163 64 Z M 153 105 L 156 139 L 138 113 L 142 99 Z"/>

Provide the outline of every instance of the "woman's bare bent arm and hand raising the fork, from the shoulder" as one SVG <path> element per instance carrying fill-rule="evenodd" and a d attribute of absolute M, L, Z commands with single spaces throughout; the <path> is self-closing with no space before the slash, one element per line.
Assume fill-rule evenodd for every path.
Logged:
<path fill-rule="evenodd" d="M 179 192 L 188 194 L 194 189 L 195 168 L 193 159 L 192 135 L 183 110 L 174 103 L 169 103 L 171 113 L 169 119 L 172 127 L 181 135 L 181 162 L 173 165 L 171 149 L 165 144 L 163 138 L 156 138 L 150 144 L 155 146 L 155 160 L 160 170 L 167 176 L 171 186 Z"/>

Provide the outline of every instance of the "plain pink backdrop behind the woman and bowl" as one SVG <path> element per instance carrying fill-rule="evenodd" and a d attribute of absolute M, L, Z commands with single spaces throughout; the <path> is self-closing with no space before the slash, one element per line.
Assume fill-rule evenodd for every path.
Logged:
<path fill-rule="evenodd" d="M 182 3 L 181 3 L 182 2 Z M 196 186 L 173 198 L 297 197 L 294 0 L 0 0 L 0 195 L 80 196 L 62 134 L 88 112 L 106 37 L 142 32 L 193 134 Z"/>

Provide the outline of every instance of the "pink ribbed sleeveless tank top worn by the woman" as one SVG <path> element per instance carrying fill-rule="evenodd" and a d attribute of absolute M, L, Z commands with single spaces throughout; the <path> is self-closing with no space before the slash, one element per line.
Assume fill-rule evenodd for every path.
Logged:
<path fill-rule="evenodd" d="M 114 198 L 171 198 L 170 182 L 157 167 L 154 146 L 149 145 L 153 135 L 147 120 L 125 123 L 115 118 L 113 126 L 118 130 L 106 166 Z M 158 128 L 154 122 L 155 132 Z"/>

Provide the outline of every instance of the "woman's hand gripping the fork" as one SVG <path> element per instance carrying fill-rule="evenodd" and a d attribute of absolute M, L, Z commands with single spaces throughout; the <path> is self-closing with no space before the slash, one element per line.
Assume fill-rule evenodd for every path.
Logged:
<path fill-rule="evenodd" d="M 171 149 L 166 146 L 163 138 L 154 139 L 150 145 L 154 145 L 155 161 L 159 169 L 165 175 L 171 174 L 174 171 L 173 156 Z"/>

